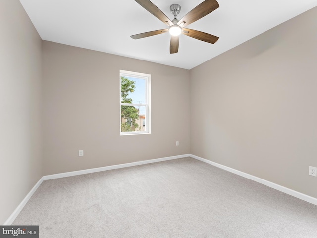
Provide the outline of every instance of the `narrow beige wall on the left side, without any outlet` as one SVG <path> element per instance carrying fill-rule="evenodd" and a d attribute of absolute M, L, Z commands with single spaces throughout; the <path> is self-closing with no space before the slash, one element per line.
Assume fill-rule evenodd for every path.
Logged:
<path fill-rule="evenodd" d="M 0 0 L 0 224 L 42 177 L 42 40 L 18 0 Z"/>

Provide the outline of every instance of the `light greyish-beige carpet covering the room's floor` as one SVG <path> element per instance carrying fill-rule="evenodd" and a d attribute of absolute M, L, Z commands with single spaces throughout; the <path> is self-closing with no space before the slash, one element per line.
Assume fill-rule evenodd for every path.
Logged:
<path fill-rule="evenodd" d="M 317 238 L 317 206 L 183 158 L 46 180 L 12 225 L 40 238 Z"/>

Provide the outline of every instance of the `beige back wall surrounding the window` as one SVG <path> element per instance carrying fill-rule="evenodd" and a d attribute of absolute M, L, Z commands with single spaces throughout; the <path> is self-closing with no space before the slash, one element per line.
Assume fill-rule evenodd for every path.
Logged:
<path fill-rule="evenodd" d="M 189 153 L 189 70 L 48 41 L 43 65 L 45 175 Z M 120 69 L 152 75 L 152 134 L 119 135 Z"/>

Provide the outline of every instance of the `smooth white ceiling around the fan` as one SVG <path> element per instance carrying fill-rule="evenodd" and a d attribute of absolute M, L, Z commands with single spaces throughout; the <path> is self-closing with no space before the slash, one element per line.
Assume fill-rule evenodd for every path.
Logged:
<path fill-rule="evenodd" d="M 151 0 L 170 19 L 181 19 L 203 0 Z M 315 6 L 317 0 L 217 0 L 220 7 L 188 28 L 216 35 L 209 44 L 181 35 L 169 54 L 169 33 L 134 40 L 130 35 L 167 28 L 134 0 L 20 0 L 43 40 L 191 69 Z M 314 19 L 316 20 L 316 19 Z"/>

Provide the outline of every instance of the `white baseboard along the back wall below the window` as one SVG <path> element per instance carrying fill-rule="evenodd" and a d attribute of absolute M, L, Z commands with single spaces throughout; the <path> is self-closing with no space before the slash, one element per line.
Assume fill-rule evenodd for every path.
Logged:
<path fill-rule="evenodd" d="M 189 156 L 190 156 L 189 154 L 175 155 L 175 156 L 163 157 L 163 158 L 159 158 L 159 159 L 142 160 L 142 161 L 131 162 L 131 163 L 126 163 L 126 164 L 110 165 L 110 166 L 87 169 L 87 170 L 78 170 L 78 171 L 72 171 L 72 172 L 66 172 L 66 173 L 60 173 L 60 174 L 54 174 L 54 175 L 46 175 L 46 176 L 43 176 L 43 180 L 58 179 L 58 178 L 64 178 L 64 177 L 69 177 L 69 176 L 75 176 L 75 175 L 84 175 L 84 174 L 90 174 L 90 173 L 101 172 L 101 171 L 106 171 L 106 170 L 115 170 L 115 169 L 120 169 L 120 168 L 150 164 L 150 163 L 161 162 L 161 161 L 166 161 L 166 160 L 180 159 L 180 158 L 189 157 Z"/>

